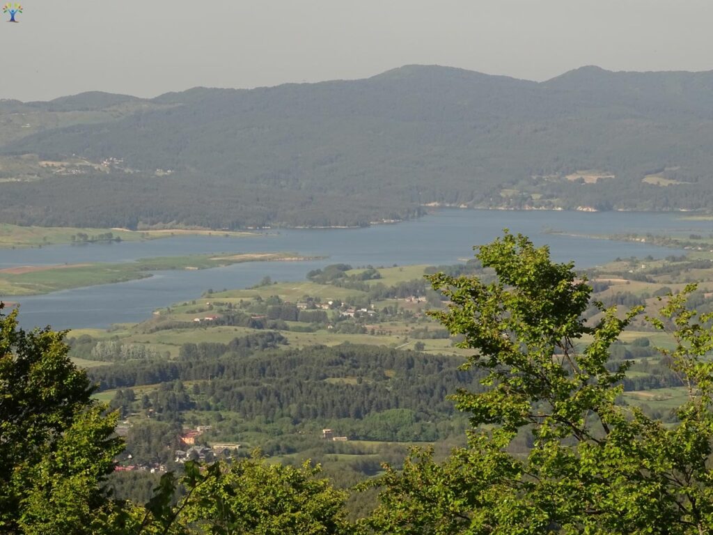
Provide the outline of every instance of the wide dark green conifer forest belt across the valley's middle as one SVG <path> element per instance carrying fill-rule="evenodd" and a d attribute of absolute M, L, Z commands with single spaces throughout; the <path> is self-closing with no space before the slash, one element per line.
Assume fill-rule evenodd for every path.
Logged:
<path fill-rule="evenodd" d="M 198 406 L 204 410 L 236 412 L 247 419 L 277 422 L 287 417 L 292 424 L 338 420 L 351 438 L 409 441 L 444 438 L 452 432 L 447 423 L 438 425 L 453 414 L 446 394 L 458 387 L 478 387 L 471 372 L 456 370 L 456 362 L 454 357 L 359 345 L 245 357 L 182 350 L 176 362 L 126 362 L 93 368 L 90 374 L 103 387 L 198 382 L 196 394 L 175 383 L 150 394 L 149 406 L 167 421 L 175 421 L 180 407 L 200 399 Z"/>

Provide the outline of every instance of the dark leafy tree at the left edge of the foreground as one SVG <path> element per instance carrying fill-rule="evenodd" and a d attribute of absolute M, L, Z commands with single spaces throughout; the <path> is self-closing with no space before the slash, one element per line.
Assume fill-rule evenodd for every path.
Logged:
<path fill-rule="evenodd" d="M 0 303 L 0 532 L 92 533 L 122 445 L 64 332 L 25 332 Z"/>

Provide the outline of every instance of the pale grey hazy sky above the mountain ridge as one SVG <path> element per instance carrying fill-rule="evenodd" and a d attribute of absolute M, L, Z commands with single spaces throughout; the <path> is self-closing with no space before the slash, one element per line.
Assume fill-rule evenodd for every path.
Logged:
<path fill-rule="evenodd" d="M 711 0 L 22 4 L 20 24 L 0 23 L 0 98 L 90 90 L 155 96 L 193 86 L 364 78 L 407 63 L 533 80 L 591 64 L 713 69 Z"/>

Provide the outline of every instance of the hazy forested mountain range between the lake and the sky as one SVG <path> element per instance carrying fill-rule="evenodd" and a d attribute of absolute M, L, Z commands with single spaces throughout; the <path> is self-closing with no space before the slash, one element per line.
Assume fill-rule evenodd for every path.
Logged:
<path fill-rule="evenodd" d="M 438 66 L 150 100 L 0 101 L 0 221 L 366 225 L 433 203 L 707 210 L 713 72 Z"/>

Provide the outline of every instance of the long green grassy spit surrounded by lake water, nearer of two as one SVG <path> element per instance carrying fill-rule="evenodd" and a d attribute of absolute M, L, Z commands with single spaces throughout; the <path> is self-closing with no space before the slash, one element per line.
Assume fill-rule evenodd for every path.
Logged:
<path fill-rule="evenodd" d="M 22 266 L 0 270 L 0 296 L 33 295 L 150 277 L 152 271 L 204 270 L 242 262 L 303 260 L 296 253 L 223 253 L 145 258 L 130 263 Z"/>

